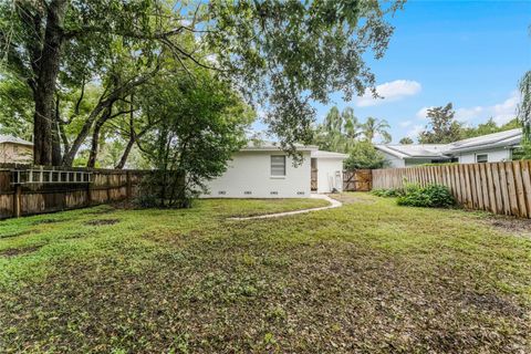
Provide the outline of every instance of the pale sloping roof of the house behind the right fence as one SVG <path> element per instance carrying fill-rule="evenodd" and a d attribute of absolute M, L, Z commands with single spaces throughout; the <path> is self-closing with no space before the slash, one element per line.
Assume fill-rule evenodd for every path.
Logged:
<path fill-rule="evenodd" d="M 450 144 L 376 145 L 381 152 L 398 158 L 435 158 L 455 153 L 519 145 L 522 129 L 487 134 Z"/>

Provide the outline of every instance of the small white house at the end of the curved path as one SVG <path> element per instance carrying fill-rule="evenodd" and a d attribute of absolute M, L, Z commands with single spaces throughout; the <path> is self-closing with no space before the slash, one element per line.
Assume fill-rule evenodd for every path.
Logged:
<path fill-rule="evenodd" d="M 209 194 L 204 198 L 305 198 L 312 192 L 343 188 L 345 154 L 320 152 L 315 146 L 298 146 L 302 163 L 293 165 L 279 146 L 271 143 L 250 144 L 232 156 L 227 171 L 207 181 Z M 316 174 L 312 175 L 313 169 Z"/>

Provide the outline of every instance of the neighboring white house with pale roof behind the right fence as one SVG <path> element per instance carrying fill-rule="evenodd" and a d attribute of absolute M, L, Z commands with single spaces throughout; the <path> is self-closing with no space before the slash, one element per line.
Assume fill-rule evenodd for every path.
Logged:
<path fill-rule="evenodd" d="M 391 167 L 437 163 L 499 163 L 512 159 L 520 146 L 522 129 L 472 137 L 450 144 L 376 145 Z"/>

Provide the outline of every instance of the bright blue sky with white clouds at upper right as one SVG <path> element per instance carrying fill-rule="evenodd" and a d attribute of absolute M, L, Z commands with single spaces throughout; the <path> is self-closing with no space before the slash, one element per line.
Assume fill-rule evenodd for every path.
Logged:
<path fill-rule="evenodd" d="M 351 106 L 362 122 L 386 119 L 397 143 L 416 138 L 426 110 L 448 102 L 467 125 L 514 117 L 518 82 L 531 70 L 531 0 L 409 0 L 389 22 L 395 32 L 385 56 L 367 60 L 385 98 L 332 94 L 327 105 L 314 104 L 317 122 L 333 105 Z"/>

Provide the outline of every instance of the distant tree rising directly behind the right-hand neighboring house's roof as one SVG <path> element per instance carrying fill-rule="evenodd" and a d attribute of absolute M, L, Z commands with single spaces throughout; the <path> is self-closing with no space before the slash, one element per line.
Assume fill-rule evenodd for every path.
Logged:
<path fill-rule="evenodd" d="M 456 112 L 451 103 L 446 106 L 429 108 L 429 119 L 425 131 L 418 136 L 420 144 L 448 144 L 462 137 L 462 124 L 455 119 Z"/>

